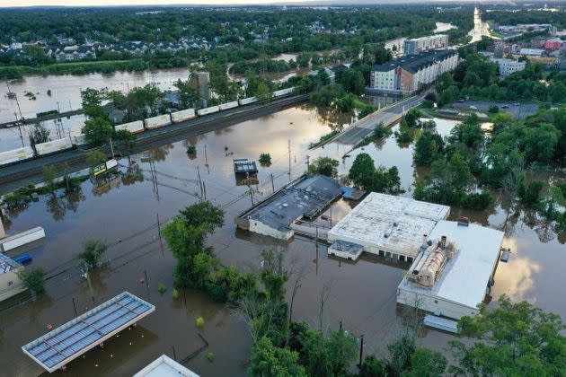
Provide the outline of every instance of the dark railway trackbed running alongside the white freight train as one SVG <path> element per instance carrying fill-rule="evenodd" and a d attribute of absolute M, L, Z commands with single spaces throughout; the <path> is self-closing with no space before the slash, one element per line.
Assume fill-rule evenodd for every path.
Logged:
<path fill-rule="evenodd" d="M 305 101 L 308 101 L 308 95 L 301 94 L 272 101 L 267 105 L 254 103 L 252 105 L 199 117 L 187 122 L 147 130 L 137 136 L 134 153 L 140 153 L 160 145 L 174 143 L 190 136 L 205 134 L 253 118 L 270 115 Z M 101 150 L 107 154 L 110 153 L 109 146 L 94 149 Z M 0 194 L 5 194 L 30 183 L 35 184 L 41 182 L 43 180 L 43 166 L 46 165 L 67 163 L 71 171 L 79 171 L 87 168 L 88 166 L 85 159 L 86 153 L 92 150 L 93 149 L 87 150 L 79 148 L 0 168 Z"/>

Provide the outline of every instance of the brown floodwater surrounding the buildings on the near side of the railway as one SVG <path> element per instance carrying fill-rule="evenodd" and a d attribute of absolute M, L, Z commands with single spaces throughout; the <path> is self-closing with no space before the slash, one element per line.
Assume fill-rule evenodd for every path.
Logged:
<path fill-rule="evenodd" d="M 309 106 L 301 106 L 264 118 L 243 122 L 206 135 L 164 145 L 151 151 L 155 159 L 156 182 L 151 180 L 149 162 L 140 155 L 132 162 L 144 170 L 146 180 L 130 182 L 112 180 L 95 189 L 90 181 L 83 184 L 80 195 L 74 197 L 41 197 L 17 213 L 10 213 L 8 232 L 21 232 L 33 226 L 43 226 L 47 243 L 31 251 L 31 266 L 44 266 L 49 271 L 48 294 L 31 302 L 5 310 L 8 304 L 23 301 L 25 294 L 0 303 L 0 374 L 34 375 L 42 373 L 37 364 L 23 355 L 21 346 L 32 339 L 128 290 L 152 302 L 156 311 L 141 320 L 137 329 L 125 330 L 106 343 L 68 365 L 70 375 L 131 375 L 158 355 L 176 355 L 183 359 L 202 346 L 195 320 L 202 316 L 206 324 L 202 335 L 208 348 L 186 365 L 200 375 L 243 375 L 250 357 L 251 339 L 243 321 L 227 305 L 212 302 L 206 294 L 187 290 L 172 299 L 171 252 L 162 247 L 158 236 L 157 218 L 164 224 L 177 211 L 195 203 L 199 191 L 198 171 L 207 189 L 207 198 L 226 210 L 226 225 L 209 239 L 224 264 L 234 264 L 242 270 L 257 269 L 264 248 L 282 248 L 287 263 L 294 271 L 303 269 L 293 308 L 293 320 L 305 320 L 324 328 L 344 329 L 364 335 L 365 352 L 386 355 L 385 345 L 400 333 L 406 315 L 395 302 L 396 287 L 406 268 L 383 258 L 363 256 L 357 263 L 329 259 L 326 247 L 302 238 L 282 244 L 279 241 L 237 231 L 233 219 L 251 205 L 247 186 L 237 186 L 232 160 L 255 158 L 270 153 L 272 164 L 261 167 L 259 184 L 254 185 L 254 200 L 271 193 L 270 176 L 276 189 L 305 171 L 305 158 L 331 156 L 340 160 L 340 173 L 346 173 L 358 153 L 372 155 L 376 164 L 396 165 L 402 186 L 411 195 L 411 184 L 417 173 L 411 163 L 410 145 L 397 145 L 394 136 L 363 149 L 349 152 L 349 145 L 326 145 L 308 151 L 310 143 L 330 131 L 333 126 L 349 123 L 349 118 L 332 118 Z M 447 135 L 454 121 L 437 119 L 438 131 Z M 289 159 L 288 141 L 291 141 Z M 187 145 L 196 145 L 197 158 L 185 153 Z M 227 151 L 226 151 L 227 147 Z M 349 157 L 342 159 L 344 154 Z M 290 163 L 289 163 L 290 160 Z M 127 160 L 121 160 L 127 165 Z M 287 174 L 291 166 L 291 175 Z M 556 236 L 549 227 L 532 214 L 521 213 L 507 218 L 507 211 L 498 197 L 486 211 L 470 212 L 455 208 L 453 217 L 465 214 L 474 222 L 505 229 L 505 246 L 513 250 L 508 264 L 501 263 L 495 276 L 492 295 L 508 294 L 513 300 L 528 300 L 546 311 L 555 311 L 566 318 L 566 302 L 557 300 L 563 295 L 559 278 L 566 237 Z M 332 206 L 332 224 L 347 214 L 351 206 L 339 200 Z M 330 210 L 325 215 L 330 215 Z M 324 223 L 323 220 L 319 220 Z M 328 224 L 328 222 L 326 222 Z M 330 225 L 330 224 L 329 224 Z M 105 258 L 109 262 L 93 274 L 93 292 L 77 268 L 76 253 L 88 238 L 109 243 Z M 562 243 L 561 243 L 562 242 Z M 471 271 L 473 272 L 473 271 Z M 149 287 L 140 282 L 145 279 Z M 291 290 L 295 276 L 287 289 Z M 157 284 L 168 287 L 159 294 Z M 320 316 L 320 297 L 328 294 Z M 289 294 L 290 295 L 290 294 Z M 186 298 L 186 304 L 185 304 Z M 93 303 L 94 301 L 94 303 Z M 442 349 L 453 337 L 435 330 L 422 332 L 420 342 Z M 215 355 L 208 362 L 206 354 Z"/>

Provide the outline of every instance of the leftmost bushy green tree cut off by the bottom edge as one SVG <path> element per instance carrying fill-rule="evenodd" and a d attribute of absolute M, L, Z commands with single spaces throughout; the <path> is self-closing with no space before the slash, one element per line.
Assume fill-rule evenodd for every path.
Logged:
<path fill-rule="evenodd" d="M 258 377 L 306 377 L 305 368 L 298 364 L 298 354 L 287 348 L 273 346 L 263 337 L 252 347 L 250 374 Z"/>

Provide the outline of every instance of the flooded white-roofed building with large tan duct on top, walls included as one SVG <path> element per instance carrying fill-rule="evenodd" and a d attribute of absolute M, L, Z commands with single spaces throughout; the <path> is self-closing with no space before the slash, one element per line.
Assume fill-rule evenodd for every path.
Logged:
<path fill-rule="evenodd" d="M 474 316 L 490 293 L 503 232 L 439 221 L 397 288 L 397 302 L 459 320 Z"/>

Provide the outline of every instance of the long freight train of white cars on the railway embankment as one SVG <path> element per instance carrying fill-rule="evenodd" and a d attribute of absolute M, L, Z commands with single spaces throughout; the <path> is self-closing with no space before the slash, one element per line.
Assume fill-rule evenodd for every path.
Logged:
<path fill-rule="evenodd" d="M 273 92 L 273 98 L 280 98 L 291 94 L 295 88 L 281 89 Z M 154 129 L 159 127 L 170 126 L 174 123 L 181 123 L 190 119 L 214 114 L 220 111 L 235 109 L 257 102 L 255 97 L 243 98 L 242 100 L 223 103 L 217 106 L 211 106 L 204 109 L 187 109 L 175 111 L 171 114 L 158 115 L 156 117 L 146 118 L 144 120 L 136 120 L 134 122 L 125 123 L 114 127 L 117 131 L 128 130 L 132 134 L 144 132 L 146 129 Z M 13 149 L 11 151 L 0 152 L 0 167 L 11 165 L 13 163 L 31 160 L 36 157 L 43 157 L 49 154 L 59 153 L 74 149 L 79 145 L 86 144 L 84 134 L 64 137 L 57 140 L 51 140 L 47 143 L 35 145 L 35 151 L 31 146 Z"/>

